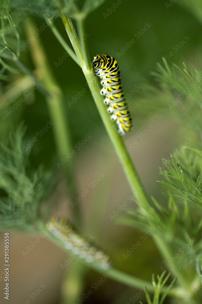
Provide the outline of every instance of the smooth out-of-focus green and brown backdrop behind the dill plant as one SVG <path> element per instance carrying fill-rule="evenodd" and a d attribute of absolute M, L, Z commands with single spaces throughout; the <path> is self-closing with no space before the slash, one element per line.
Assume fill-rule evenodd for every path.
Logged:
<path fill-rule="evenodd" d="M 201 23 L 197 21 L 190 9 L 186 8 L 183 1 L 177 0 L 167 8 L 166 2 L 160 0 L 152 2 L 122 0 L 122 3 L 106 17 L 104 14 L 108 13 L 108 9 L 112 7 L 113 3 L 116 1 L 104 2 L 88 16 L 86 33 L 89 36 L 86 41 L 92 60 L 97 53 L 108 53 L 118 59 L 126 94 L 130 93 L 135 85 L 141 86 L 142 81 L 151 81 L 152 85 L 157 86 L 150 71 L 156 71 L 156 62 L 162 60 L 162 56 L 167 56 L 170 52 L 174 53 L 171 61 L 181 68 L 184 61 L 188 67 L 194 66 L 196 70 L 200 71 L 202 63 Z M 80 1 L 78 1 L 78 5 L 80 5 Z M 16 12 L 14 16 L 22 40 L 28 39 L 25 24 L 18 20 Z M 40 28 L 44 23 L 38 14 L 33 14 L 31 18 L 35 22 L 36 28 Z M 151 27 L 137 40 L 134 35 L 144 28 L 145 23 L 149 23 Z M 55 20 L 55 25 L 68 41 L 60 18 Z M 176 52 L 173 47 L 179 44 L 184 36 L 188 36 L 190 39 Z M 90 133 L 92 136 L 91 140 L 74 156 L 78 192 L 83 192 L 85 188 L 88 188 L 88 184 L 97 178 L 99 173 L 106 174 L 106 178 L 81 202 L 84 234 L 95 234 L 96 242 L 112 255 L 116 268 L 150 281 L 152 273 L 155 275 L 161 273 L 160 268 L 164 265 L 152 239 L 149 237 L 124 261 L 122 254 L 131 248 L 131 244 L 140 240 L 141 234 L 116 225 L 115 220 L 111 221 L 109 218 L 113 210 L 116 210 L 118 205 L 123 204 L 124 201 L 129 206 L 134 206 L 134 203 L 127 199 L 131 194 L 130 189 L 86 86 L 84 75 L 70 57 L 57 67 L 55 66 L 55 62 L 58 62 L 59 57 L 64 55 L 65 50 L 48 27 L 40 33 L 39 38 L 45 48 L 55 79 L 64 93 L 65 115 L 71 131 L 73 147 L 85 138 L 86 133 Z M 124 48 L 131 39 L 135 39 L 135 43 L 118 58 L 117 53 L 120 53 L 121 48 Z M 34 69 L 29 47 L 21 53 L 21 60 L 31 70 Z M 19 77 L 19 75 L 8 75 L 8 82 L 2 82 L 3 92 L 8 84 Z M 83 88 L 87 88 L 87 92 L 70 107 L 68 101 L 70 102 L 72 97 L 78 94 L 77 91 L 80 92 Z M 11 105 L 13 104 L 11 103 Z M 161 195 L 163 187 L 156 183 L 156 180 L 161 179 L 158 169 L 158 166 L 162 165 L 161 158 L 167 158 L 192 133 L 186 129 L 186 125 L 181 124 L 174 112 L 171 113 L 163 101 L 159 107 L 159 104 L 156 104 L 149 94 L 143 94 L 142 89 L 135 92 L 134 96 L 129 99 L 129 108 L 134 119 L 134 126 L 132 131 L 124 136 L 126 146 L 137 139 L 138 134 L 146 130 L 148 124 L 155 126 L 142 141 L 139 141 L 137 147 L 132 149 L 131 156 L 147 193 L 163 199 Z M 7 117 L 6 110 L 5 108 L 0 112 L 0 137 L 4 142 L 21 120 L 27 126 L 25 143 L 32 139 L 37 131 L 46 125 L 47 121 L 50 121 L 45 99 L 37 90 L 12 115 Z M 37 167 L 39 164 L 43 164 L 46 168 L 52 168 L 52 166 L 56 166 L 55 154 L 54 137 L 52 129 L 49 129 L 41 138 L 38 138 L 33 147 L 32 165 Z M 66 217 L 71 218 L 71 206 L 66 207 L 68 193 L 62 178 L 54 199 L 58 200 L 56 214 L 60 216 L 65 214 Z M 36 236 L 30 238 L 24 234 L 11 232 L 10 249 L 13 268 L 10 275 L 16 294 L 11 295 L 10 303 L 23 303 L 28 299 L 29 294 L 37 289 L 39 283 L 43 282 L 49 282 L 48 287 L 43 294 L 35 298 L 35 303 L 59 303 L 60 283 L 64 275 L 64 271 L 61 271 L 59 265 L 66 258 L 66 254 L 43 240 L 32 253 L 25 258 L 22 257 L 22 250 L 35 238 Z M 2 252 L 0 254 L 2 255 Z M 101 275 L 94 271 L 88 272 L 84 278 L 82 292 L 91 289 L 91 285 L 100 278 Z M 138 290 L 127 288 L 107 279 L 93 292 L 86 303 L 134 303 L 130 298 L 137 292 Z M 141 296 L 141 301 L 146 303 L 144 295 Z M 138 303 L 139 300 L 136 302 Z M 167 298 L 165 303 L 175 302 L 173 299 Z"/>

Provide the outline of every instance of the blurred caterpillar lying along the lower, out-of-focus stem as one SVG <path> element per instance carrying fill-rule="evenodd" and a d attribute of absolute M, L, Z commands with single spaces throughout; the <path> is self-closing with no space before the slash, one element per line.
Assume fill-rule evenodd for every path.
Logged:
<path fill-rule="evenodd" d="M 52 218 L 46 227 L 56 238 L 60 239 L 65 248 L 75 255 L 85 259 L 88 263 L 94 262 L 100 267 L 108 269 L 112 266 L 108 254 L 81 237 L 66 219 Z"/>

